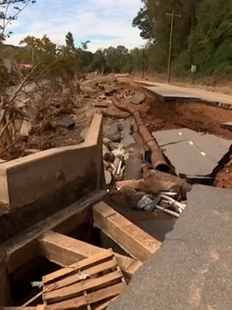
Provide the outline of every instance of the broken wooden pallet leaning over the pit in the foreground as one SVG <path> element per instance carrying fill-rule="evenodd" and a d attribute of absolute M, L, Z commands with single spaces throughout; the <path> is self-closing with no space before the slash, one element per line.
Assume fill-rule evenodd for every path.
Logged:
<path fill-rule="evenodd" d="M 48 310 L 101 310 L 125 286 L 110 249 L 43 277 L 43 300 Z"/>

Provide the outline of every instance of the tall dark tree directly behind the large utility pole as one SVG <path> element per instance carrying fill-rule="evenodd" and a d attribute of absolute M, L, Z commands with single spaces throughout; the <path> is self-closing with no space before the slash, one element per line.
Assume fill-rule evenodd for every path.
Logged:
<path fill-rule="evenodd" d="M 170 13 L 173 10 L 181 18 L 175 19 L 173 31 L 172 59 L 175 60 L 188 48 L 189 35 L 196 24 L 196 12 L 202 0 L 142 0 L 144 6 L 133 20 L 133 26 L 141 30 L 141 37 L 148 39 L 153 46 L 153 59 L 159 70 L 166 70 L 170 37 Z"/>

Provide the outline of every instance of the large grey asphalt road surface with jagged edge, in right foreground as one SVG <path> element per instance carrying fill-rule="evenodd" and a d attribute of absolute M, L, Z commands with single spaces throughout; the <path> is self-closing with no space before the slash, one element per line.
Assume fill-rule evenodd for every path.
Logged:
<path fill-rule="evenodd" d="M 232 190 L 194 185 L 161 249 L 109 310 L 232 309 Z"/>

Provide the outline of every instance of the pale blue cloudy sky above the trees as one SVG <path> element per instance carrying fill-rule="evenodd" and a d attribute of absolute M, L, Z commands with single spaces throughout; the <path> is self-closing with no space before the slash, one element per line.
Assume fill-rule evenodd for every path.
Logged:
<path fill-rule="evenodd" d="M 131 49 L 144 44 L 140 30 L 131 26 L 140 7 L 140 0 L 37 0 L 9 26 L 13 34 L 6 43 L 18 45 L 27 35 L 41 38 L 47 34 L 62 45 L 71 31 L 76 47 L 89 40 L 92 52 L 118 45 Z"/>

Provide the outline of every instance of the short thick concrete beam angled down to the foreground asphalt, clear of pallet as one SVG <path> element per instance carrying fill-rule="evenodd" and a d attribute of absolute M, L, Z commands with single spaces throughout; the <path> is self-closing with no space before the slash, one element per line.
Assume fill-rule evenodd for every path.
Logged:
<path fill-rule="evenodd" d="M 131 223 L 105 202 L 101 201 L 93 207 L 93 217 L 94 223 L 102 232 L 142 262 L 161 247 L 160 241 Z"/>

